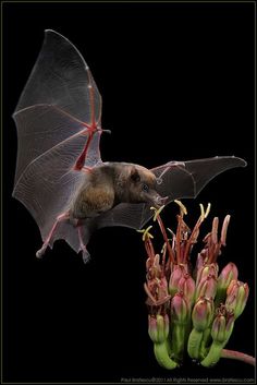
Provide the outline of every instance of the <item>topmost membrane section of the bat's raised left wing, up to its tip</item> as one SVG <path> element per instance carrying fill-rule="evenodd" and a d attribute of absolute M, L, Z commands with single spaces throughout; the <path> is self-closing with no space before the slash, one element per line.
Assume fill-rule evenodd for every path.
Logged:
<path fill-rule="evenodd" d="M 78 50 L 54 31 L 45 32 L 42 48 L 15 111 L 38 104 L 53 105 L 85 122 L 98 123 L 101 96 Z M 47 130 L 47 128 L 46 128 Z"/>

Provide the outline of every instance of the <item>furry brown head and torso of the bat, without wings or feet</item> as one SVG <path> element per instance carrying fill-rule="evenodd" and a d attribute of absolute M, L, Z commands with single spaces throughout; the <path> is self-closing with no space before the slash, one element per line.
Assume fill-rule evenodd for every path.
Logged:
<path fill-rule="evenodd" d="M 122 202 L 155 204 L 158 198 L 156 177 L 150 170 L 133 164 L 106 163 L 86 175 L 70 214 L 83 219 L 95 217 Z"/>

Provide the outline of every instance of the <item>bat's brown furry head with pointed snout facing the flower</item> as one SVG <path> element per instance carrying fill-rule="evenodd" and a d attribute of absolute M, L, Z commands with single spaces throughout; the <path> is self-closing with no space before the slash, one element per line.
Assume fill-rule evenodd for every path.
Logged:
<path fill-rule="evenodd" d="M 161 197 L 157 192 L 156 176 L 145 167 L 131 167 L 127 188 L 131 203 L 149 203 L 155 207 L 166 203 L 167 197 Z"/>

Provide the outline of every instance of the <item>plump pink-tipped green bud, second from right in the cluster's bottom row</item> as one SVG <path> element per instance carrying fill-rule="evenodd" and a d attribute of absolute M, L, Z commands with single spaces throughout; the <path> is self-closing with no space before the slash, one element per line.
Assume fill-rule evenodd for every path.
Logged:
<path fill-rule="evenodd" d="M 209 327 L 213 316 L 213 300 L 210 298 L 201 297 L 195 303 L 192 312 L 193 325 L 198 332 L 204 332 Z"/>

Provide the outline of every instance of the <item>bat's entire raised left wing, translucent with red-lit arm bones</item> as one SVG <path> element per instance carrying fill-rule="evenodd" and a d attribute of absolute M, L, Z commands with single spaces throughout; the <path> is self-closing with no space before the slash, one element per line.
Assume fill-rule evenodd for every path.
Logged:
<path fill-rule="evenodd" d="M 13 196 L 45 240 L 85 178 L 79 170 L 101 161 L 101 96 L 83 57 L 62 35 L 45 32 L 13 118 L 19 139 Z"/>

